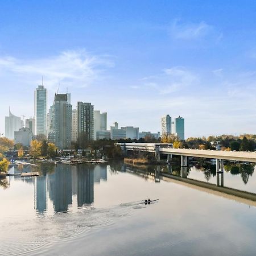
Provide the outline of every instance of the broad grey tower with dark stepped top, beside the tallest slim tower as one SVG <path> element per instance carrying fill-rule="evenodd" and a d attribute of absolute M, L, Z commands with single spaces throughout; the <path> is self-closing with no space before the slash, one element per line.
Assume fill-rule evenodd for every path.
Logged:
<path fill-rule="evenodd" d="M 59 149 L 71 146 L 72 105 L 68 103 L 68 94 L 55 94 L 53 106 L 49 109 L 49 141 Z"/>

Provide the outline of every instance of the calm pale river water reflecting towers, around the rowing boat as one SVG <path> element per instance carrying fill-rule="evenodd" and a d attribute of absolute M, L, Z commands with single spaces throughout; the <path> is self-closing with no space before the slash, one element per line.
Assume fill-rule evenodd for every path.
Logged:
<path fill-rule="evenodd" d="M 233 167 L 226 166 L 224 185 L 256 192 L 255 167 Z M 197 165 L 188 178 L 215 184 L 214 168 Z M 175 181 L 155 182 L 147 170 L 119 162 L 23 171 L 40 176 L 11 176 L 0 187 L 0 255 L 256 253 L 256 208 L 249 204 Z M 180 175 L 178 167 L 171 171 Z M 148 197 L 159 202 L 141 204 Z"/>

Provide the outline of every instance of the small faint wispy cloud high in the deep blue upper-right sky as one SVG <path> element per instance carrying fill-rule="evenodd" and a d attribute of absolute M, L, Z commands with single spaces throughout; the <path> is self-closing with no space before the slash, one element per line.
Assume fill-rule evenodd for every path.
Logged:
<path fill-rule="evenodd" d="M 198 39 L 213 31 L 213 26 L 205 23 L 181 23 L 179 20 L 174 20 L 171 26 L 171 36 L 175 39 Z"/>

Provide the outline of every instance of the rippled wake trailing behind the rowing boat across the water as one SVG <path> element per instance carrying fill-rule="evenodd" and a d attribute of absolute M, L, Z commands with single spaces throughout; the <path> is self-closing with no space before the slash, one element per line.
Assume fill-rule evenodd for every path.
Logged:
<path fill-rule="evenodd" d="M 1 226 L 8 226 L 7 237 L 1 245 L 1 255 L 35 255 L 49 251 L 57 242 L 72 242 L 79 236 L 88 236 L 92 229 L 102 229 L 113 225 L 120 217 L 129 217 L 134 209 L 145 205 L 137 202 L 116 205 L 111 208 L 93 208 L 86 206 L 79 212 L 58 213 L 24 220 L 5 220 Z M 4 224 L 5 223 L 5 224 Z M 5 228 L 6 230 L 6 228 Z M 1 237 L 1 236 L 0 236 Z"/>

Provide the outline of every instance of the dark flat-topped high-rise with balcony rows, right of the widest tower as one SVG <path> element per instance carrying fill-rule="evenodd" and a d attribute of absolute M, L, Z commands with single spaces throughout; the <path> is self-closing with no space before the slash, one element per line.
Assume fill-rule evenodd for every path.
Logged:
<path fill-rule="evenodd" d="M 81 144 L 93 141 L 93 108 L 90 103 L 77 102 L 77 135 Z"/>

